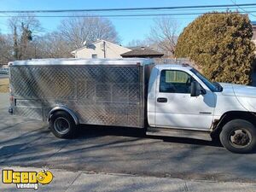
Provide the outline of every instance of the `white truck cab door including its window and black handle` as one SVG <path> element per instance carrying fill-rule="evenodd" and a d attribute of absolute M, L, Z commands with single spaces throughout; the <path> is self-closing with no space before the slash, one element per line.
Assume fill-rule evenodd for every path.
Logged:
<path fill-rule="evenodd" d="M 155 91 L 155 126 L 180 129 L 208 130 L 212 125 L 215 96 L 190 96 L 191 82 L 188 72 L 159 70 Z"/>

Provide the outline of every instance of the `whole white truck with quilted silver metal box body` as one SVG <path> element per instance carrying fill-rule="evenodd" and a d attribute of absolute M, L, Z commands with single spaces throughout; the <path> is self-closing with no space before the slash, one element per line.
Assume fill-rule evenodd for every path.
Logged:
<path fill-rule="evenodd" d="M 44 59 L 9 63 L 9 112 L 48 121 L 56 137 L 79 124 L 134 127 L 148 135 L 219 138 L 256 148 L 256 88 L 212 83 L 188 65 L 133 59 Z"/>

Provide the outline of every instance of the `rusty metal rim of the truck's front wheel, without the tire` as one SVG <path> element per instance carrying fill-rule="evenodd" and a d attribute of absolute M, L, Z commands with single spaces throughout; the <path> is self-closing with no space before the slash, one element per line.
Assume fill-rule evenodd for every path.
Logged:
<path fill-rule="evenodd" d="M 247 129 L 237 128 L 230 132 L 229 139 L 235 148 L 246 148 L 252 142 L 252 135 Z"/>

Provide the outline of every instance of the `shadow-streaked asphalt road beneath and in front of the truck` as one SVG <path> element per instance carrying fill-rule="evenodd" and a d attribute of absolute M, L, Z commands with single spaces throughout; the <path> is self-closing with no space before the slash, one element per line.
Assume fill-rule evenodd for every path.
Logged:
<path fill-rule="evenodd" d="M 78 138 L 64 140 L 40 121 L 9 115 L 8 105 L 8 94 L 0 95 L 0 167 L 256 183 L 256 154 L 231 154 L 218 143 L 148 137 L 127 128 L 83 126 Z"/>

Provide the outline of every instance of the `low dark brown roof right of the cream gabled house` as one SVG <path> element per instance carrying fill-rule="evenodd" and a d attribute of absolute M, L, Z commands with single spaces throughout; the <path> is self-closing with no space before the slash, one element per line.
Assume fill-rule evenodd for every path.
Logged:
<path fill-rule="evenodd" d="M 121 54 L 123 58 L 127 57 L 143 57 L 143 58 L 160 58 L 164 54 L 156 51 L 154 49 L 140 47 L 137 49 L 132 49 L 126 53 Z"/>

